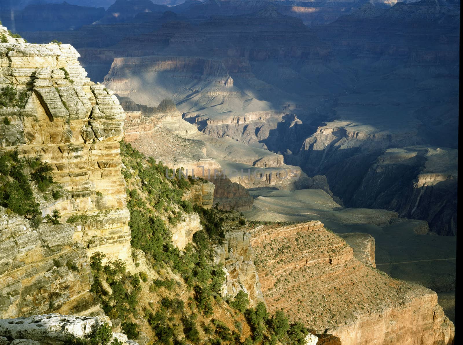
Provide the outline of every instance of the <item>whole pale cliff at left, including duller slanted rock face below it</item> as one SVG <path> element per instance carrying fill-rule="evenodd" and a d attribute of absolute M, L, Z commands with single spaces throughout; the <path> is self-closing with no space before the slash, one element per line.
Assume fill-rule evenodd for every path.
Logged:
<path fill-rule="evenodd" d="M 8 37 L 0 44 L 0 87 L 25 90 L 27 101 L 24 109 L 0 109 L 8 119 L 1 150 L 50 164 L 59 195 L 36 197 L 42 215 L 57 210 L 63 224 L 35 230 L 2 209 L 1 317 L 99 313 L 88 257 L 131 255 L 119 157 L 125 113 L 111 91 L 86 78 L 69 44 Z"/>

